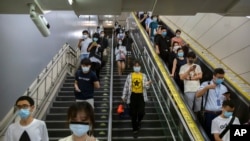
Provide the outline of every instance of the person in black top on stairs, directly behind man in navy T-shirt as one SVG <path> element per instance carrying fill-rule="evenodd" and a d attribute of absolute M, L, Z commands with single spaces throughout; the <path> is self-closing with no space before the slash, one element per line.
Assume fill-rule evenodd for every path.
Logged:
<path fill-rule="evenodd" d="M 89 44 L 87 49 L 89 52 L 89 59 L 91 61 L 91 70 L 96 73 L 98 80 L 100 80 L 100 71 L 101 71 L 101 64 L 102 64 L 102 47 L 100 45 L 100 37 L 98 33 L 93 34 L 93 42 Z"/>

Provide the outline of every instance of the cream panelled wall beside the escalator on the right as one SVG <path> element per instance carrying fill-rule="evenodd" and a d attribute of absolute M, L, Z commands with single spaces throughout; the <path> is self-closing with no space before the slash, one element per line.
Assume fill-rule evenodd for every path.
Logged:
<path fill-rule="evenodd" d="M 199 13 L 164 16 L 250 83 L 250 20 Z M 175 29 L 174 29 L 175 30 Z"/>

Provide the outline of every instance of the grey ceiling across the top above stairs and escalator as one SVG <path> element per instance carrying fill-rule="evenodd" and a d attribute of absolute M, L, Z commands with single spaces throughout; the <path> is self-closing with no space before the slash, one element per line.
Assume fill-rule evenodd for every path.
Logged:
<path fill-rule="evenodd" d="M 125 22 L 128 12 L 152 11 L 157 15 L 195 15 L 218 13 L 223 16 L 250 16 L 250 0 L 0 0 L 0 14 L 29 14 L 29 3 L 36 11 L 74 11 L 79 15 L 97 15 L 98 22 Z M 114 15 L 114 16 L 104 16 Z"/>

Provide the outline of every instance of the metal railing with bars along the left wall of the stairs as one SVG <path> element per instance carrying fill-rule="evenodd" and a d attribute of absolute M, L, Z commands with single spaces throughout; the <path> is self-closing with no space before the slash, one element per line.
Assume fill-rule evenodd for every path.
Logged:
<path fill-rule="evenodd" d="M 34 117 L 40 116 L 39 113 L 40 110 L 44 108 L 43 105 L 50 102 L 45 100 L 50 95 L 48 92 L 54 88 L 54 82 L 60 77 L 59 74 L 61 74 L 61 71 L 65 70 L 65 68 L 69 66 L 69 70 L 67 71 L 72 73 L 74 71 L 72 68 L 75 67 L 76 62 L 77 51 L 73 49 L 68 43 L 65 43 L 59 52 L 53 57 L 48 65 L 27 88 L 23 95 L 31 96 L 34 99 L 36 104 L 35 111 L 33 112 Z M 18 121 L 19 119 L 20 118 L 18 118 L 13 106 L 0 122 L 0 137 L 4 136 L 11 123 Z"/>

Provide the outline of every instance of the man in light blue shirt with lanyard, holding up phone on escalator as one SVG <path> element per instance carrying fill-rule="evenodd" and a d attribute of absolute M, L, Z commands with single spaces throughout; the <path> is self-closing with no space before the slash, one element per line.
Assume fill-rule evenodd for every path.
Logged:
<path fill-rule="evenodd" d="M 225 71 L 222 68 L 216 68 L 213 72 L 213 79 L 211 81 L 205 81 L 201 84 L 200 88 L 196 92 L 196 97 L 202 97 L 205 109 L 204 129 L 213 141 L 214 138 L 211 134 L 212 120 L 221 114 L 222 102 L 226 99 L 224 93 L 227 92 L 227 87 L 222 84 L 224 81 Z"/>

